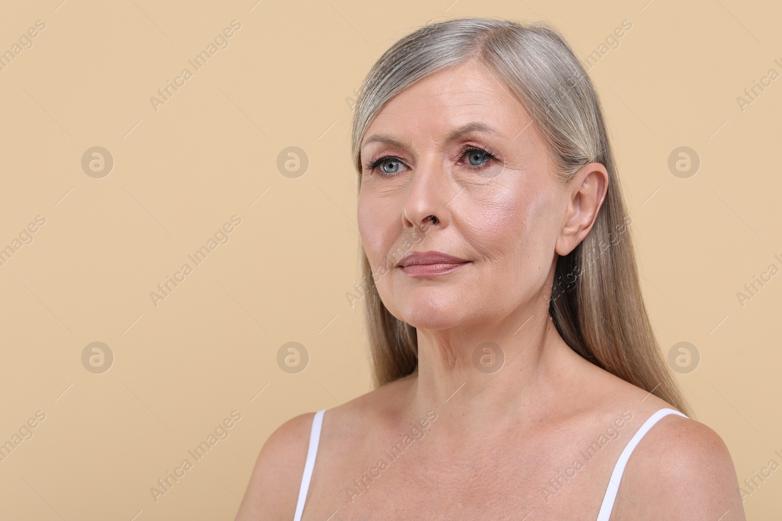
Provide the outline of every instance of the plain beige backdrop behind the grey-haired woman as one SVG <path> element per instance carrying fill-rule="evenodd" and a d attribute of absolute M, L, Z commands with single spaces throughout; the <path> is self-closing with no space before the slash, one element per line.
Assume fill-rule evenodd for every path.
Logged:
<path fill-rule="evenodd" d="M 583 59 L 632 23 L 590 75 L 651 318 L 666 355 L 698 349 L 698 369 L 677 378 L 739 480 L 782 463 L 782 275 L 737 298 L 782 268 L 782 80 L 737 103 L 782 73 L 777 2 L 59 2 L 4 2 L 0 17 L 0 51 L 46 26 L 0 71 L 0 247 L 45 219 L 0 266 L 0 442 L 46 415 L 0 462 L 0 519 L 233 519 L 277 426 L 371 389 L 346 298 L 358 279 L 350 99 L 397 38 L 461 16 L 547 20 Z M 193 72 L 188 59 L 231 20 L 228 48 Z M 192 78 L 153 109 L 185 67 Z M 94 146 L 114 159 L 101 179 L 81 168 Z M 307 154 L 302 177 L 278 170 L 289 146 Z M 694 177 L 669 171 L 680 146 L 701 159 Z M 153 305 L 234 215 L 228 243 Z M 82 365 L 94 341 L 113 351 L 105 373 Z M 289 341 L 310 355 L 302 373 L 278 366 Z M 230 436 L 155 501 L 150 487 L 231 411 Z M 744 502 L 748 519 L 779 518 L 780 492 L 777 470 Z"/>

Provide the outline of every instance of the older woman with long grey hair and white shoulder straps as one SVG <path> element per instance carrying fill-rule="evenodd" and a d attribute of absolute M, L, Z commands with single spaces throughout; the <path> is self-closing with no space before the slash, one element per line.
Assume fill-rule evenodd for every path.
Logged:
<path fill-rule="evenodd" d="M 601 105 L 558 33 L 396 42 L 353 121 L 374 391 L 296 416 L 236 519 L 744 519 L 662 361 Z"/>

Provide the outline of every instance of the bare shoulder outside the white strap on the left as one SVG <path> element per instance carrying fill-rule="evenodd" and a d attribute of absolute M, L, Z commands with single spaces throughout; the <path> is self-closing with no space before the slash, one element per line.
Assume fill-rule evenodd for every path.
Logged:
<path fill-rule="evenodd" d="M 292 519 L 307 460 L 314 412 L 274 430 L 260 449 L 236 521 Z"/>

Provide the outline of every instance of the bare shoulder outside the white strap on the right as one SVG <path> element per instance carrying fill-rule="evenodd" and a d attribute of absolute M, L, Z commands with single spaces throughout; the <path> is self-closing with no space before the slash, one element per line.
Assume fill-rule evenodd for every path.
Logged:
<path fill-rule="evenodd" d="M 703 423 L 664 416 L 641 438 L 619 484 L 619 519 L 744 521 L 730 451 Z"/>

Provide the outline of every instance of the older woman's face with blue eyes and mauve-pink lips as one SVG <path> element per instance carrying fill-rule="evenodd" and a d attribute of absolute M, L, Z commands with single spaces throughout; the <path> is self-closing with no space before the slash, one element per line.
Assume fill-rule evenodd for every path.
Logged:
<path fill-rule="evenodd" d="M 504 319 L 541 295 L 547 305 L 572 191 L 490 73 L 465 62 L 396 95 L 364 134 L 361 162 L 361 241 L 393 316 L 439 330 Z M 467 262 L 397 266 L 411 252 Z"/>

